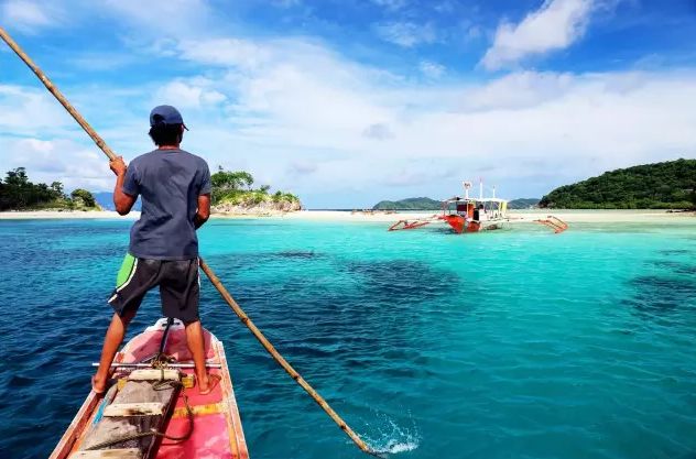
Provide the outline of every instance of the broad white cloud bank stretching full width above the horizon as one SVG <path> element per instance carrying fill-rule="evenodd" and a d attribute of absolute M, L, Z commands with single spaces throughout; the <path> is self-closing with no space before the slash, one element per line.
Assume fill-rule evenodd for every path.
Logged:
<path fill-rule="evenodd" d="M 696 156 L 696 108 L 685 102 L 696 98 L 696 69 L 515 72 L 423 84 L 304 39 L 162 48 L 172 51 L 187 74 L 199 68 L 200 76 L 128 91 L 62 89 L 127 160 L 151 147 L 148 112 L 171 98 L 192 128 L 187 150 L 213 167 L 244 168 L 274 189 L 294 190 L 309 206 L 368 206 L 395 193 L 443 197 L 479 175 L 497 183 L 500 196 L 539 195 L 606 170 Z M 94 153 L 94 165 L 78 152 Z M 34 167 L 47 182 L 111 186 L 101 153 L 35 87 L 0 86 L 0 162 Z"/>

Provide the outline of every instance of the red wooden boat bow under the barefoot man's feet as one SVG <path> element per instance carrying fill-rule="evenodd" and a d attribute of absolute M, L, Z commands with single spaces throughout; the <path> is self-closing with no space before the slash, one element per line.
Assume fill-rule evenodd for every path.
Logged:
<path fill-rule="evenodd" d="M 247 459 L 225 348 L 204 330 L 213 392 L 194 387 L 184 325 L 160 319 L 112 363 L 113 384 L 89 393 L 50 459 Z"/>

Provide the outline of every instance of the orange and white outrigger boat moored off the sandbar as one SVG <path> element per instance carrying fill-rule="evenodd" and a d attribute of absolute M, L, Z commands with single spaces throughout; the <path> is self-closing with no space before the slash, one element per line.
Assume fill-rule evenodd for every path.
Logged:
<path fill-rule="evenodd" d="M 464 182 L 464 198 L 455 196 L 443 200 L 442 215 L 415 220 L 399 220 L 389 228 L 389 231 L 416 229 L 437 221 L 449 225 L 458 234 L 502 229 L 509 221 L 508 201 L 496 197 L 496 188 L 493 188 L 492 197 L 483 197 L 482 182 L 478 198 L 469 197 L 470 188 L 471 183 Z"/>

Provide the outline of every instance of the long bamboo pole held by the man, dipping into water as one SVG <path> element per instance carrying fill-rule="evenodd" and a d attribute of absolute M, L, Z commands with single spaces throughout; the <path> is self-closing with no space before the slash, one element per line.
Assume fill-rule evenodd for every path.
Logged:
<path fill-rule="evenodd" d="M 14 51 L 14 53 L 17 53 L 17 55 L 24 62 L 24 64 L 26 64 L 29 68 L 32 69 L 32 72 L 39 77 L 41 83 L 44 84 L 46 89 L 48 89 L 48 91 L 51 91 L 51 94 L 54 95 L 56 99 L 58 99 L 58 102 L 61 102 L 61 105 L 65 107 L 65 109 L 73 116 L 75 121 L 77 121 L 77 123 L 85 130 L 85 132 L 87 132 L 87 134 L 91 138 L 91 140 L 95 141 L 97 146 L 101 149 L 101 151 L 109 157 L 109 160 L 115 160 L 117 157 L 116 153 L 111 151 L 104 139 L 101 139 L 101 136 L 91 128 L 91 125 L 89 125 L 87 120 L 85 120 L 83 116 L 79 114 L 79 112 L 75 109 L 75 107 L 73 107 L 70 102 L 68 102 L 68 100 L 65 98 L 65 96 L 63 96 L 58 88 L 56 88 L 53 83 L 51 83 L 48 77 L 46 77 L 41 68 L 39 68 L 39 66 L 33 63 L 33 61 L 26 55 L 26 53 L 22 51 L 17 42 L 14 42 L 14 40 L 12 40 L 12 37 L 2 28 L 0 28 L 0 37 L 12 48 L 12 51 Z M 291 378 L 295 380 L 295 382 L 300 384 L 312 398 L 314 398 L 314 401 L 326 412 L 326 414 L 328 414 L 329 417 L 334 419 L 338 427 L 340 427 L 340 429 L 345 431 L 348 437 L 350 437 L 350 439 L 358 446 L 358 448 L 369 455 L 380 457 L 376 451 L 367 446 L 365 441 L 362 441 L 362 439 L 348 426 L 348 424 L 346 424 L 346 422 L 329 406 L 329 404 L 326 403 L 326 400 L 324 400 L 324 397 L 319 395 L 318 392 L 316 392 L 309 385 L 309 383 L 307 383 L 304 378 L 302 378 L 302 375 L 297 373 L 294 368 L 292 368 L 290 363 L 287 363 L 283 356 L 281 356 L 275 350 L 273 345 L 271 345 L 265 336 L 263 336 L 261 330 L 259 330 L 259 328 L 253 325 L 249 316 L 247 316 L 243 309 L 237 304 L 235 298 L 232 298 L 232 295 L 229 294 L 218 276 L 215 275 L 210 266 L 208 266 L 208 264 L 203 259 L 200 259 L 200 267 L 203 269 L 203 272 L 206 273 L 215 288 L 217 288 L 217 291 L 220 293 L 222 298 L 232 308 L 235 314 L 237 314 L 241 323 L 244 324 L 247 328 L 249 328 L 249 330 L 251 330 L 253 336 L 259 340 L 259 342 L 261 342 L 261 346 L 263 346 L 263 348 L 269 351 L 269 353 L 283 368 L 283 370 L 285 370 L 287 374 L 290 374 Z"/>

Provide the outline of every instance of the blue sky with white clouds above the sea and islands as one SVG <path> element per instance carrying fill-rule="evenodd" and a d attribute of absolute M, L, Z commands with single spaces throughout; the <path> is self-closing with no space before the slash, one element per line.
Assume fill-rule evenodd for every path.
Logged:
<path fill-rule="evenodd" d="M 171 103 L 185 149 L 313 208 L 444 198 L 479 177 L 540 197 L 696 157 L 692 0 L 4 0 L 0 24 L 126 160 Z M 111 187 L 7 46 L 0 161 Z"/>

